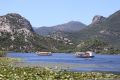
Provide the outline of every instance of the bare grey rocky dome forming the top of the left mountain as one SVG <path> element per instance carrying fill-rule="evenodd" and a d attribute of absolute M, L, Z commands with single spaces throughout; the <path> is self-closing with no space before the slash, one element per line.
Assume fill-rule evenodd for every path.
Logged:
<path fill-rule="evenodd" d="M 33 29 L 30 22 L 19 14 L 10 13 L 0 16 L 0 34 L 9 33 L 13 36 L 16 33 L 31 35 L 31 32 L 33 32 Z"/>

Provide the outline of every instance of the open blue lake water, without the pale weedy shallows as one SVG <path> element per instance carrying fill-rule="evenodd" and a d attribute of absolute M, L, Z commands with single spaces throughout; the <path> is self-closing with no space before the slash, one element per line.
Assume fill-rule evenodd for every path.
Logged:
<path fill-rule="evenodd" d="M 7 57 L 23 58 L 27 63 L 39 63 L 45 61 L 49 63 L 74 63 L 81 65 L 88 65 L 86 67 L 78 67 L 74 71 L 112 71 L 120 72 L 120 55 L 98 55 L 94 58 L 76 58 L 73 54 L 55 53 L 52 56 L 38 56 L 34 53 L 8 53 Z M 92 66 L 96 65 L 96 66 Z"/>

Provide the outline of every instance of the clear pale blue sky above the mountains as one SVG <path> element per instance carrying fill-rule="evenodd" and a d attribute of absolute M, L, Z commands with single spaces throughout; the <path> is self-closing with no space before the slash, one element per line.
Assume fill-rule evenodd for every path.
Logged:
<path fill-rule="evenodd" d="M 0 16 L 18 13 L 33 27 L 69 21 L 90 24 L 95 15 L 108 17 L 120 10 L 120 0 L 0 0 Z"/>

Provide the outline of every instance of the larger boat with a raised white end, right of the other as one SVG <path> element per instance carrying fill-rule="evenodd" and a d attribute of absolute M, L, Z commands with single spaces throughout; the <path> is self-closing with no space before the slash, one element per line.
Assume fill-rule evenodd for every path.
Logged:
<path fill-rule="evenodd" d="M 95 57 L 93 55 L 94 52 L 92 51 L 86 51 L 86 52 L 76 52 L 75 53 L 75 56 L 78 57 L 78 58 L 93 58 Z"/>

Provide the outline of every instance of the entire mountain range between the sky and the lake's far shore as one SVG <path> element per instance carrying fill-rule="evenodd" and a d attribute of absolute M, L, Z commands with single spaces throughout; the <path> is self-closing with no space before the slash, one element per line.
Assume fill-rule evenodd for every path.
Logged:
<path fill-rule="evenodd" d="M 0 16 L 0 50 L 70 52 L 75 49 L 114 51 L 119 48 L 120 10 L 109 17 L 96 15 L 88 26 L 71 21 L 34 30 L 19 14 Z"/>

